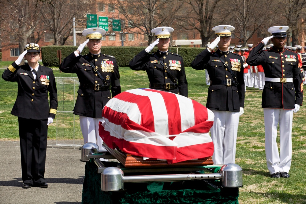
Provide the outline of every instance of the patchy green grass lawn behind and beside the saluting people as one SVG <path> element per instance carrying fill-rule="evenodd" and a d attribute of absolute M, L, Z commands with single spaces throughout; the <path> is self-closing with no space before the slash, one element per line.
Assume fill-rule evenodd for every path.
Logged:
<path fill-rule="evenodd" d="M 11 63 L 11 62 L 10 62 Z M 9 64 L 10 64 L 9 63 Z M 8 63 L 1 62 L 1 67 Z M 0 69 L 2 75 L 4 69 Z M 120 67 L 121 90 L 148 87 L 146 72 L 133 71 L 127 67 Z M 206 104 L 207 89 L 205 72 L 186 68 L 188 80 L 188 97 L 201 104 Z M 76 77 L 75 74 L 60 73 L 54 68 L 56 77 Z M 69 85 L 70 88 L 74 85 Z M 58 84 L 59 110 L 55 120 L 61 124 L 58 127 L 60 139 L 72 139 L 73 132 L 77 140 L 82 140 L 78 117 L 75 117 L 73 130 L 73 99 L 76 90 L 68 89 Z M 60 93 L 62 91 L 62 93 Z M 17 95 L 17 83 L 6 82 L 0 79 L 0 140 L 19 139 L 17 117 L 10 114 Z M 64 93 L 64 94 L 63 94 Z M 265 135 L 263 109 L 261 108 L 262 91 L 247 88 L 245 95 L 244 114 L 240 117 L 238 128 L 236 163 L 243 169 L 243 184 L 240 188 L 240 204 L 306 204 L 306 112 L 304 106 L 293 114 L 292 130 L 292 164 L 290 178 L 272 179 L 266 165 Z M 65 101 L 65 104 L 62 102 Z M 66 105 L 68 104 L 68 105 Z M 25 107 L 26 108 L 26 107 Z M 48 138 L 56 139 L 56 123 L 49 125 Z M 62 128 L 62 129 L 61 129 Z M 278 140 L 279 142 L 279 140 Z"/>

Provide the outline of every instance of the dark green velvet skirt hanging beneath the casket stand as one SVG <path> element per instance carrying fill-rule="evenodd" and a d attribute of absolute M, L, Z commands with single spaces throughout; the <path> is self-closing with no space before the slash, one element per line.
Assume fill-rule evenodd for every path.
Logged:
<path fill-rule="evenodd" d="M 112 166 L 112 162 L 105 162 Z M 106 164 L 107 165 L 107 164 Z M 207 187 L 203 180 L 160 183 L 126 183 L 124 191 L 101 191 L 98 167 L 86 162 L 83 184 L 83 204 L 238 204 L 238 188 Z M 215 181 L 215 185 L 220 182 Z"/>

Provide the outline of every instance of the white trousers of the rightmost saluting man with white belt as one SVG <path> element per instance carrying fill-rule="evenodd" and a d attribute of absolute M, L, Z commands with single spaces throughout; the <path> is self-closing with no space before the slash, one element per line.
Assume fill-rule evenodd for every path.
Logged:
<path fill-rule="evenodd" d="M 289 172 L 292 157 L 292 118 L 293 109 L 264 108 L 265 119 L 265 148 L 267 166 L 270 174 L 276 172 Z M 277 125 L 279 123 L 279 145 L 276 143 Z"/>

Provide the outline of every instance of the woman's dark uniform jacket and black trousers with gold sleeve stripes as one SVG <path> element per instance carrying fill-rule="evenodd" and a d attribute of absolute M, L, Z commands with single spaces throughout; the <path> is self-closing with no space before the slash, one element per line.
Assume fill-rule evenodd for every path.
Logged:
<path fill-rule="evenodd" d="M 28 64 L 19 66 L 14 62 L 3 72 L 2 78 L 18 85 L 11 114 L 18 117 L 22 180 L 24 184 L 40 186 L 46 183 L 47 119 L 55 118 L 58 106 L 53 71 L 39 65 L 34 79 Z M 47 184 L 43 187 L 47 187 Z"/>

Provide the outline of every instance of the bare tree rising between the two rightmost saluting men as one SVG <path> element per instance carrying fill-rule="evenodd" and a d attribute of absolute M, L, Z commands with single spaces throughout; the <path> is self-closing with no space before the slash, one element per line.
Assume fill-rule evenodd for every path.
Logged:
<path fill-rule="evenodd" d="M 271 5 L 275 0 L 229 0 L 226 13 L 219 12 L 221 17 L 230 20 L 230 24 L 235 27 L 233 34 L 245 46 L 250 38 L 259 29 L 267 30 L 271 17 Z M 239 5 L 239 6 L 237 6 Z"/>

